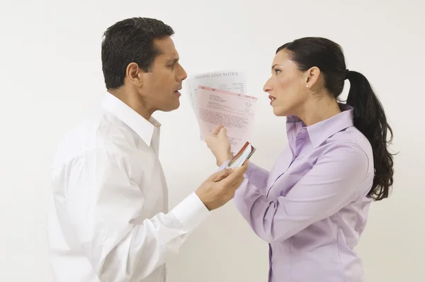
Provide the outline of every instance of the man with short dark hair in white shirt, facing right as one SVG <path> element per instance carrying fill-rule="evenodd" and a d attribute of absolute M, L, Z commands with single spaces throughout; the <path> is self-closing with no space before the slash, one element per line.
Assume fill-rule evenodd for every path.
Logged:
<path fill-rule="evenodd" d="M 52 165 L 49 242 L 57 281 L 166 281 L 166 259 L 242 184 L 246 164 L 212 174 L 168 212 L 152 113 L 179 108 L 187 75 L 173 34 L 152 18 L 106 30 L 106 99 L 69 132 Z"/>

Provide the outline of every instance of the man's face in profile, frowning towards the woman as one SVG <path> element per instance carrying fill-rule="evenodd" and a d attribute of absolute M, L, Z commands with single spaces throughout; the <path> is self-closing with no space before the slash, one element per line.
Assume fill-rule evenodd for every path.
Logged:
<path fill-rule="evenodd" d="M 154 45 L 159 55 L 152 64 L 152 70 L 143 74 L 140 94 L 149 112 L 174 111 L 180 106 L 179 90 L 187 74 L 179 64 L 179 54 L 171 38 L 154 40 Z"/>

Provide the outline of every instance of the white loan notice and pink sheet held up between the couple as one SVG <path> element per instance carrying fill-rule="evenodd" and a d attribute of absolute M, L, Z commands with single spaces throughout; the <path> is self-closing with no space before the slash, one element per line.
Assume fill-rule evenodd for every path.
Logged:
<path fill-rule="evenodd" d="M 251 141 L 257 98 L 245 94 L 242 73 L 198 74 L 190 79 L 189 92 L 201 140 L 205 140 L 217 125 L 223 125 L 232 154 Z"/>

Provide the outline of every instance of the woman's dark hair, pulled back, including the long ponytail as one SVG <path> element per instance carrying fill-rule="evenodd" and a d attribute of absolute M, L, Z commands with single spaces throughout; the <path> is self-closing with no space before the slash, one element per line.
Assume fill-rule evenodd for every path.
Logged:
<path fill-rule="evenodd" d="M 300 38 L 280 46 L 276 53 L 280 50 L 288 52 L 290 60 L 303 72 L 318 67 L 324 74 L 324 86 L 337 99 L 345 79 L 350 81 L 346 103 L 354 108 L 354 126 L 368 138 L 373 150 L 375 177 L 368 196 L 375 201 L 387 198 L 394 174 L 392 154 L 387 150 L 392 129 L 368 79 L 359 72 L 348 71 L 341 47 L 326 38 Z"/>

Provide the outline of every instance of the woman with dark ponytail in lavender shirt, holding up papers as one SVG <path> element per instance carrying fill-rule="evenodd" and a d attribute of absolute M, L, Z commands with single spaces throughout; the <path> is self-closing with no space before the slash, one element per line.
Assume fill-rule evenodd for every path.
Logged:
<path fill-rule="evenodd" d="M 345 79 L 351 87 L 341 103 Z M 370 202 L 387 198 L 393 176 L 392 130 L 378 98 L 325 38 L 279 47 L 263 90 L 273 113 L 287 117 L 288 146 L 270 172 L 249 164 L 234 203 L 269 243 L 269 281 L 365 281 L 353 249 Z M 225 167 L 225 128 L 212 133 L 208 147 Z"/>

